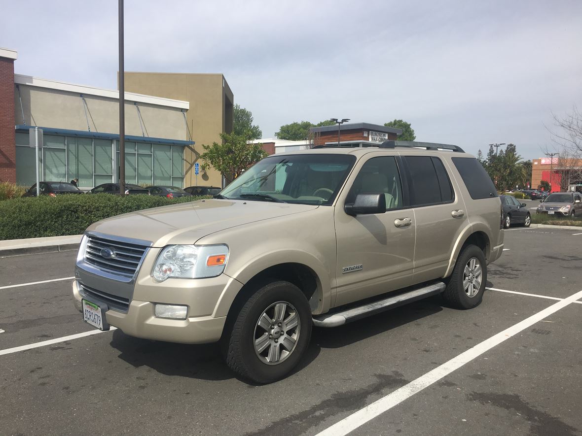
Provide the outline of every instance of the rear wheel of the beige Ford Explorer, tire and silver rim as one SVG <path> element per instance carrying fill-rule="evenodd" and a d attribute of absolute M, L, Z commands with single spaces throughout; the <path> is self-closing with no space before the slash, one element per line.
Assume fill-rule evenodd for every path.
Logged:
<path fill-rule="evenodd" d="M 467 245 L 459 253 L 443 297 L 456 309 L 480 305 L 487 282 L 485 255 L 478 246 Z"/>

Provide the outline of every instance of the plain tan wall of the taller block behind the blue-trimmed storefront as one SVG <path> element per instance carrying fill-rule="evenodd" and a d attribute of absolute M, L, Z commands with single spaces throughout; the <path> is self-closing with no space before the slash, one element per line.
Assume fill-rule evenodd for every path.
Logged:
<path fill-rule="evenodd" d="M 186 113 L 193 147 L 184 148 L 184 187 L 212 185 L 221 187 L 222 176 L 215 169 L 200 171 L 198 181 L 194 163 L 202 165 L 202 145 L 220 142 L 220 134 L 232 131 L 233 94 L 222 74 L 125 73 L 125 90 L 156 97 L 190 102 Z"/>

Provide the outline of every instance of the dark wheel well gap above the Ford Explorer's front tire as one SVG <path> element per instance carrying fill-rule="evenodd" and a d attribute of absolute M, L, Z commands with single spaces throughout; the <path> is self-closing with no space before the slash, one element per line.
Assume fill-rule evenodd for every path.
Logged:
<path fill-rule="evenodd" d="M 229 331 L 229 327 L 232 326 L 247 299 L 262 286 L 276 280 L 284 280 L 296 285 L 305 294 L 312 311 L 321 305 L 322 288 L 315 271 L 302 263 L 280 263 L 262 270 L 244 284 L 236 295 L 235 301 L 230 305 L 223 335 Z"/>

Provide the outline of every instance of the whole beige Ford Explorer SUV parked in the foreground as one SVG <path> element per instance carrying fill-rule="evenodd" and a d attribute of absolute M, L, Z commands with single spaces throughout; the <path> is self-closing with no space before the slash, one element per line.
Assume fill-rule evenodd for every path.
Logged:
<path fill-rule="evenodd" d="M 220 341 L 230 368 L 269 383 L 296 366 L 313 325 L 435 294 L 477 306 L 501 228 L 491 179 L 457 146 L 282 153 L 216 199 L 90 226 L 73 295 L 97 328 Z"/>

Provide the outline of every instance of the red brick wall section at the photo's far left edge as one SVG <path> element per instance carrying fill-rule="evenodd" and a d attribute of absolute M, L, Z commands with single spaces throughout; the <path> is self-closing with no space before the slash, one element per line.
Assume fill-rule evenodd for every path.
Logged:
<path fill-rule="evenodd" d="M 14 60 L 0 58 L 0 182 L 16 183 Z"/>

